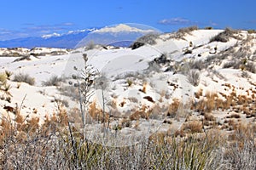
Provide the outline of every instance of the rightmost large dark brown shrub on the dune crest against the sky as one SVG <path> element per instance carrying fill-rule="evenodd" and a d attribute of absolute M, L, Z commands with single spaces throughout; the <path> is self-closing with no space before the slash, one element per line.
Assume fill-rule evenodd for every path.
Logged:
<path fill-rule="evenodd" d="M 220 32 L 217 36 L 212 37 L 210 39 L 210 42 L 228 42 L 230 40 L 230 37 L 235 37 L 234 34 L 236 34 L 238 31 L 233 30 L 231 28 L 226 28 L 223 32 Z"/>

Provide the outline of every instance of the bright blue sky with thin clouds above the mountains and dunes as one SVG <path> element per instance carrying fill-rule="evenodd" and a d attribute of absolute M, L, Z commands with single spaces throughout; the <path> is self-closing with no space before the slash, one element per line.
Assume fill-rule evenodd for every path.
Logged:
<path fill-rule="evenodd" d="M 256 29 L 255 0 L 9 0 L 1 2 L 0 40 L 138 23 L 160 31 L 184 26 Z"/>

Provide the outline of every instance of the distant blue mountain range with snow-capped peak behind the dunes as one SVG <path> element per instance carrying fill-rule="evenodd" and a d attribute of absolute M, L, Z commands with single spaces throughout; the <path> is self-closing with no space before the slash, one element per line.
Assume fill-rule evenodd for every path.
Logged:
<path fill-rule="evenodd" d="M 53 33 L 42 37 L 24 37 L 0 41 L 0 48 L 77 48 L 90 42 L 127 46 L 129 45 L 127 42 L 132 42 L 137 37 L 150 32 L 154 32 L 154 30 L 120 24 L 111 27 L 68 31 L 64 34 Z"/>

